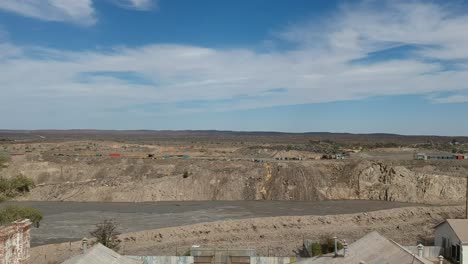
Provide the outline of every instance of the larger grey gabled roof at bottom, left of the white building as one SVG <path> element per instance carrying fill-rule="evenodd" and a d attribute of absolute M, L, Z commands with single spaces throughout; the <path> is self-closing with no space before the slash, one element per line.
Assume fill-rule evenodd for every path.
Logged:
<path fill-rule="evenodd" d="M 342 251 L 340 252 L 343 253 Z M 431 261 L 419 258 L 396 242 L 389 240 L 378 232 L 372 232 L 348 246 L 346 257 L 334 257 L 328 254 L 298 264 L 350 264 L 364 261 L 366 264 L 432 264 Z"/>

